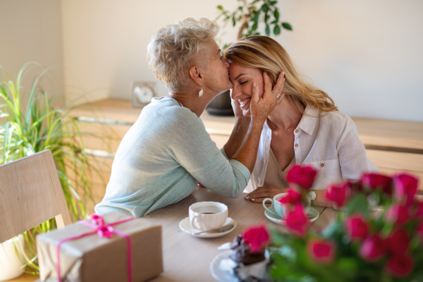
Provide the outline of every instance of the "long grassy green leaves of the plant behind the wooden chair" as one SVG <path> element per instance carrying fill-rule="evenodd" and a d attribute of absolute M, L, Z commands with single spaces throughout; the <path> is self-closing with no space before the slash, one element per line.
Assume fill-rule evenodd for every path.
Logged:
<path fill-rule="evenodd" d="M 29 91 L 24 91 L 23 80 L 30 71 L 38 71 L 38 75 Z M 76 221 L 85 217 L 86 205 L 92 201 L 90 173 L 98 173 L 87 158 L 82 135 L 96 135 L 79 130 L 69 114 L 73 104 L 52 106 L 63 97 L 43 89 L 42 79 L 49 71 L 39 63 L 26 63 L 13 81 L 0 66 L 0 164 L 50 149 L 71 218 Z M 68 176 L 71 171 L 73 177 Z M 26 244 L 22 255 L 28 273 L 38 272 L 35 235 L 54 228 L 56 221 L 51 219 L 23 233 Z"/>

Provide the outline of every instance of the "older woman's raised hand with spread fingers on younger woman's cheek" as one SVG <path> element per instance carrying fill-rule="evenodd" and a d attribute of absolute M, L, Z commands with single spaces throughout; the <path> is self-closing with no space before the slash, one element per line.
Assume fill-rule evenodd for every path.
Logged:
<path fill-rule="evenodd" d="M 285 93 L 282 93 L 283 84 L 285 83 L 283 75 L 285 75 L 285 73 L 279 73 L 276 85 L 272 90 L 269 75 L 265 71 L 263 72 L 264 93 L 262 98 L 259 97 L 259 87 L 257 86 L 257 83 L 252 83 L 250 112 L 253 122 L 257 121 L 261 124 L 264 123 L 275 106 L 282 102 L 283 97 L 285 97 Z M 281 95 L 279 99 L 278 94 Z"/>

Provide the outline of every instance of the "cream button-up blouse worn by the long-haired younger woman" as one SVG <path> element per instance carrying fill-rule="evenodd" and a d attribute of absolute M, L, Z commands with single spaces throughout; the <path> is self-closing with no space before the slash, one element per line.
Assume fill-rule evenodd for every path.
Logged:
<path fill-rule="evenodd" d="M 306 106 L 305 114 L 294 130 L 295 163 L 310 165 L 319 173 L 313 189 L 326 189 L 344 179 L 358 180 L 364 172 L 379 171 L 366 157 L 354 121 L 340 111 L 321 113 Z M 263 125 L 254 170 L 244 192 L 265 186 L 271 142 L 271 129 Z"/>

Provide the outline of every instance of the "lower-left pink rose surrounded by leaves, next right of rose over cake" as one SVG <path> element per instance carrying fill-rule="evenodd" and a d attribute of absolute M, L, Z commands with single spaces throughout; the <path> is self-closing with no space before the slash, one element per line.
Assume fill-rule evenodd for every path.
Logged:
<path fill-rule="evenodd" d="M 310 239 L 307 242 L 307 253 L 317 264 L 331 264 L 335 259 L 335 244 L 330 240 Z"/>

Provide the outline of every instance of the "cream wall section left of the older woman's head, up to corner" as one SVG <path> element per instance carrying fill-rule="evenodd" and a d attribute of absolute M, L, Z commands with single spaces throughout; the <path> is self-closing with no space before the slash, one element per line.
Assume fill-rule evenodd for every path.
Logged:
<path fill-rule="evenodd" d="M 235 7 L 236 2 L 232 2 Z M 129 99 L 130 82 L 147 80 L 157 82 L 157 96 L 166 95 L 145 59 L 153 33 L 163 25 L 188 17 L 214 19 L 220 3 L 63 0 L 64 62 L 73 71 L 65 73 L 66 85 L 91 90 L 90 99 Z M 232 32 L 235 37 L 235 30 Z"/>

